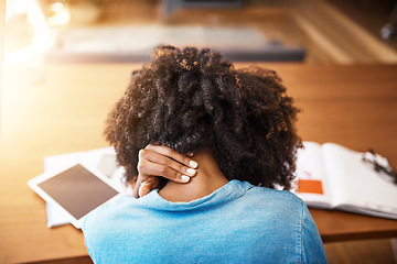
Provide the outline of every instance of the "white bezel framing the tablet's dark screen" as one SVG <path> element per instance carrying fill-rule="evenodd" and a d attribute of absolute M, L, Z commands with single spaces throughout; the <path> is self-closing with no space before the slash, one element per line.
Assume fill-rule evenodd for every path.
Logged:
<path fill-rule="evenodd" d="M 115 189 L 118 194 L 114 197 L 111 197 L 110 199 L 108 199 L 107 201 L 105 201 L 103 205 L 111 202 L 116 199 L 118 199 L 120 196 L 122 196 L 124 194 L 120 191 L 120 189 L 109 179 L 107 178 L 103 173 L 98 172 L 97 169 L 94 169 L 89 166 L 87 166 L 84 163 L 76 163 L 72 166 L 67 166 L 64 167 L 62 169 L 57 169 L 51 173 L 43 173 L 32 179 L 30 179 L 28 182 L 28 185 L 30 188 L 32 188 L 39 196 L 41 196 L 45 201 L 50 202 L 52 206 L 54 206 L 60 212 L 62 212 L 65 218 L 76 228 L 76 229 L 82 229 L 83 222 L 85 220 L 85 218 L 87 217 L 87 215 L 89 212 L 87 212 L 86 215 L 84 215 L 82 218 L 77 219 L 75 218 L 72 213 L 69 213 L 62 205 L 60 205 L 55 199 L 53 199 L 44 189 L 42 189 L 40 187 L 40 184 L 44 183 L 47 179 L 51 179 L 55 176 L 57 176 L 58 174 L 62 174 L 63 172 L 76 166 L 76 165 L 81 165 L 83 166 L 85 169 L 87 169 L 89 173 L 92 173 L 94 176 L 96 176 L 99 180 L 101 180 L 103 183 L 105 183 L 106 185 L 108 185 L 110 188 Z"/>

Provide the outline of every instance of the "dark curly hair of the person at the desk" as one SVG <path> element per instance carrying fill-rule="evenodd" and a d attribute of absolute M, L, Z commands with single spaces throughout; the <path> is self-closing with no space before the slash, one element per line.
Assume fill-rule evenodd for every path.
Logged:
<path fill-rule="evenodd" d="M 195 153 L 208 147 L 228 179 L 291 187 L 297 108 L 273 70 L 235 69 L 208 48 L 162 46 L 109 113 L 106 138 L 127 179 L 149 143 Z"/>

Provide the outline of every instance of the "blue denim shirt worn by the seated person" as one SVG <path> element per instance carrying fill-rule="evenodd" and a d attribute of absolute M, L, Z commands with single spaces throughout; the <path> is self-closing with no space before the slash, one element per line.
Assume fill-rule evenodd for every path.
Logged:
<path fill-rule="evenodd" d="M 301 199 L 239 180 L 191 202 L 125 196 L 83 231 L 95 263 L 326 263 Z"/>

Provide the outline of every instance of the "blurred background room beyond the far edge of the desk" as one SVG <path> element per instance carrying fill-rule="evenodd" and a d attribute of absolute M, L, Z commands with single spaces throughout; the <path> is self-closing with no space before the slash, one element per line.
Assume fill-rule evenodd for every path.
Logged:
<path fill-rule="evenodd" d="M 232 61 L 396 63 L 394 0 L 7 0 L 6 64 L 144 62 L 161 44 Z"/>

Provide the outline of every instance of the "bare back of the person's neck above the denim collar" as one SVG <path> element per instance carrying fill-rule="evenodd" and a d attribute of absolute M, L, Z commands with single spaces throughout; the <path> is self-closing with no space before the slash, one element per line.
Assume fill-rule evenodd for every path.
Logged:
<path fill-rule="evenodd" d="M 197 174 L 187 184 L 168 182 L 159 191 L 162 198 L 173 202 L 187 202 L 211 195 L 228 183 L 208 150 L 194 154 L 192 158 L 198 163 Z"/>

